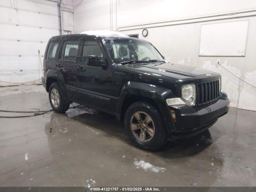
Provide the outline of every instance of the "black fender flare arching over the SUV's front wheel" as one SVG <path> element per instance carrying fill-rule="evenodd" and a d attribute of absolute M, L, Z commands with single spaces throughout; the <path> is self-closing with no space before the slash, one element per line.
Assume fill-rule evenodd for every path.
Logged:
<path fill-rule="evenodd" d="M 166 103 L 166 99 L 176 97 L 170 89 L 142 82 L 126 82 L 122 87 L 120 97 L 116 105 L 116 113 L 118 115 L 121 114 L 122 105 L 125 102 L 126 96 L 129 95 L 142 96 L 154 101 L 162 116 L 167 132 L 171 133 L 175 131 L 174 122 Z"/>

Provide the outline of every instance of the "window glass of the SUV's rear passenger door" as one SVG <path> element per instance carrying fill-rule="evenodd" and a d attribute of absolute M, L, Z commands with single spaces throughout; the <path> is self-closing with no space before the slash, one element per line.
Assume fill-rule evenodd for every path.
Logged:
<path fill-rule="evenodd" d="M 78 44 L 79 41 L 64 41 L 60 59 L 75 62 Z"/>

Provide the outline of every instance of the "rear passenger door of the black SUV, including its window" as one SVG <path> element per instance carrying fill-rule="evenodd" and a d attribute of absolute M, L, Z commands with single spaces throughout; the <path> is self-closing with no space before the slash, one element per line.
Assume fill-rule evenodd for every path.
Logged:
<path fill-rule="evenodd" d="M 68 98 L 76 100 L 77 88 L 77 65 L 78 65 L 79 38 L 66 38 L 62 40 L 62 48 L 56 70 L 59 70 L 63 77 Z"/>

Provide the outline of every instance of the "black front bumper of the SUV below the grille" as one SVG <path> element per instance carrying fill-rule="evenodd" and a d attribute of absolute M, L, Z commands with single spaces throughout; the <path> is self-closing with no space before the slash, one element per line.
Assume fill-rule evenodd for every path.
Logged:
<path fill-rule="evenodd" d="M 220 98 L 218 101 L 201 107 L 169 107 L 174 110 L 176 122 L 172 139 L 187 138 L 210 128 L 219 117 L 228 113 L 230 101 L 228 98 Z"/>

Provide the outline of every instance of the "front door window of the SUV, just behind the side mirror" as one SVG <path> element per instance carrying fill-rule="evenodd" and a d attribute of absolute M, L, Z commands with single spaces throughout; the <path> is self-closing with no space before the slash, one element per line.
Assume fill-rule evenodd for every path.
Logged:
<path fill-rule="evenodd" d="M 100 46 L 95 41 L 85 41 L 82 53 L 82 62 L 88 64 L 88 56 L 103 57 Z"/>

